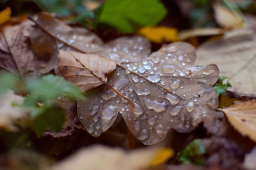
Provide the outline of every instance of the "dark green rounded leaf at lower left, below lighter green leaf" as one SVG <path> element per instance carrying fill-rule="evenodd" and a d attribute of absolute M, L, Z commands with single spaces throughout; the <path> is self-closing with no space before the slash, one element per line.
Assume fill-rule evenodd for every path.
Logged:
<path fill-rule="evenodd" d="M 46 130 L 60 131 L 64 122 L 65 111 L 60 107 L 51 107 L 46 108 L 43 113 L 35 118 L 32 128 L 38 136 L 41 136 Z"/>

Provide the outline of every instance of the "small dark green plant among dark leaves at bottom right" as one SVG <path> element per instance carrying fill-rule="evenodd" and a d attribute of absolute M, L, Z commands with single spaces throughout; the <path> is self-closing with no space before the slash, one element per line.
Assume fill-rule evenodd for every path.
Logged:
<path fill-rule="evenodd" d="M 204 154 L 206 153 L 201 139 L 195 139 L 189 143 L 186 148 L 178 153 L 179 161 L 182 165 L 194 164 L 200 166 L 204 164 Z"/>

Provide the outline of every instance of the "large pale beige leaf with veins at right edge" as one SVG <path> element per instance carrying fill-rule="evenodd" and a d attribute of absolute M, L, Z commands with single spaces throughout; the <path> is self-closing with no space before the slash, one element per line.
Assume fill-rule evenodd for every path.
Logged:
<path fill-rule="evenodd" d="M 196 65 L 217 64 L 220 76 L 227 76 L 234 97 L 256 97 L 255 31 L 239 29 L 225 33 L 223 38 L 207 41 L 198 47 Z M 228 66 L 228 67 L 227 67 Z"/>

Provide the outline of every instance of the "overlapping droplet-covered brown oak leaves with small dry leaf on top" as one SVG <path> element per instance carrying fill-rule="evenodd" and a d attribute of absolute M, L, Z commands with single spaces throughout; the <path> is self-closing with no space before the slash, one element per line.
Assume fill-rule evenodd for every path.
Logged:
<path fill-rule="evenodd" d="M 92 32 L 69 27 L 45 13 L 35 23 L 30 35 L 35 53 L 56 60 L 63 50 L 58 55 L 61 74 L 89 90 L 86 100 L 77 103 L 77 115 L 93 136 L 107 131 L 120 113 L 134 136 L 154 145 L 172 128 L 192 131 L 218 106 L 212 90 L 218 67 L 193 66 L 195 48 L 188 43 L 172 43 L 149 55 L 150 43 L 139 36 L 104 45 Z"/>

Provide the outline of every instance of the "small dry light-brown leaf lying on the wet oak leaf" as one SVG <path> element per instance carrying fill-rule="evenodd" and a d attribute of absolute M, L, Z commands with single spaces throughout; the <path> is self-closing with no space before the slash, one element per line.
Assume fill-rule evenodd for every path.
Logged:
<path fill-rule="evenodd" d="M 87 91 L 107 81 L 107 75 L 116 68 L 114 60 L 96 54 L 60 50 L 58 68 L 62 76 Z"/>

